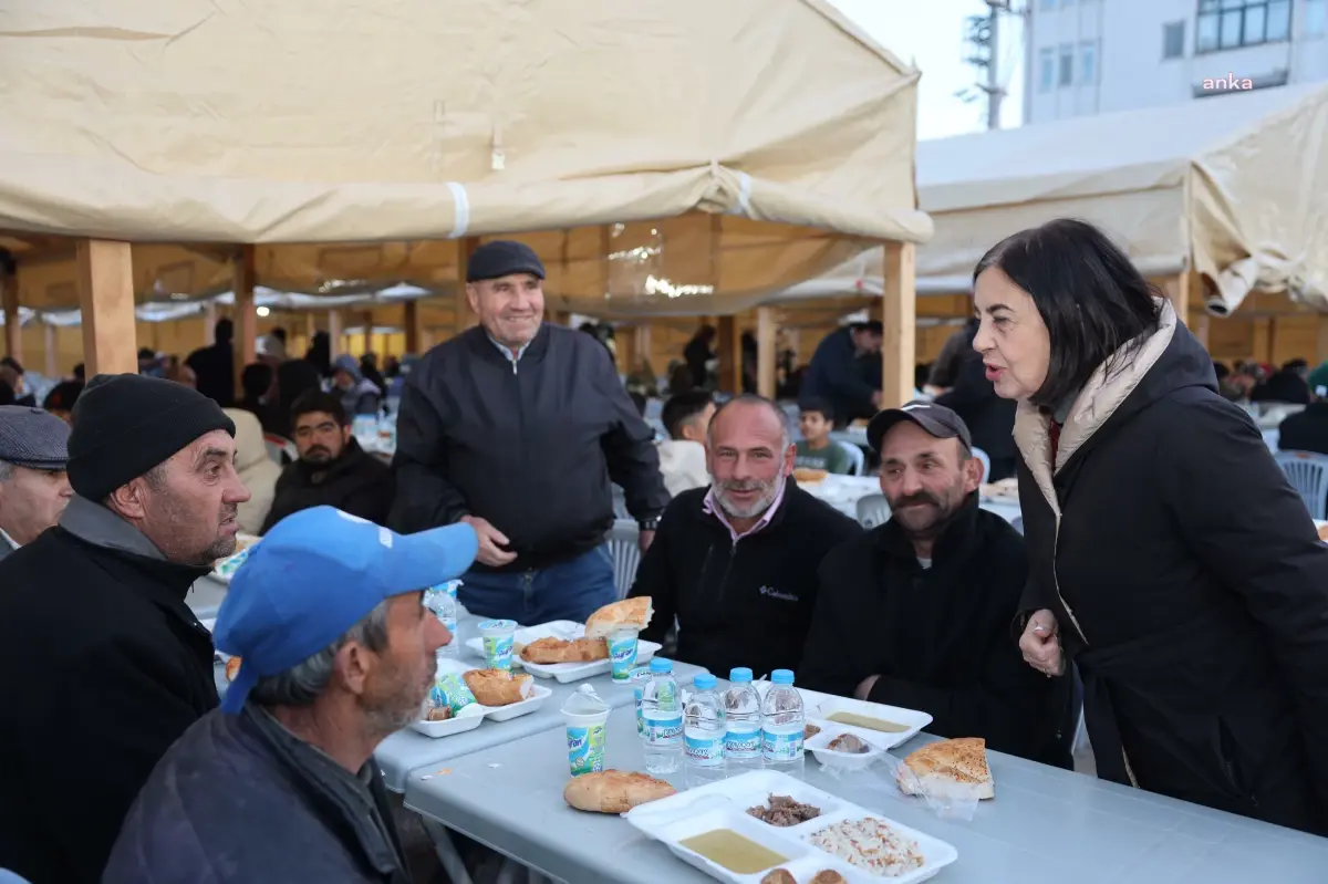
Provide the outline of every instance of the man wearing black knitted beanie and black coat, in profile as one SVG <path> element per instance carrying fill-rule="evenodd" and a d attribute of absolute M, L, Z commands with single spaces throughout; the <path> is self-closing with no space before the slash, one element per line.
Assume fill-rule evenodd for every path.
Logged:
<path fill-rule="evenodd" d="M 74 404 L 74 495 L 0 561 L 0 868 L 98 881 L 153 767 L 216 706 L 211 634 L 185 595 L 235 551 L 234 435 L 220 406 L 161 378 L 98 374 Z"/>

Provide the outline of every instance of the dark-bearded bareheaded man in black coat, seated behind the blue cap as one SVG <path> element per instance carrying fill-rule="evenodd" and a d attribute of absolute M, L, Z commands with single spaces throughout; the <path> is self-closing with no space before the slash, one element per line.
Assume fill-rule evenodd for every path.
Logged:
<path fill-rule="evenodd" d="M 308 390 L 291 406 L 300 459 L 276 480 L 263 534 L 286 516 L 317 506 L 336 507 L 382 524 L 392 510 L 392 469 L 360 447 L 341 400 Z"/>

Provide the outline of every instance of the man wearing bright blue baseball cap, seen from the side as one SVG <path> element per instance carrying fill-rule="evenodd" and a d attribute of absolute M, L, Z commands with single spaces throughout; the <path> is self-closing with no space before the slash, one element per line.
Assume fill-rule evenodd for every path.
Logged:
<path fill-rule="evenodd" d="M 449 640 L 422 591 L 477 550 L 467 524 L 402 536 L 332 507 L 274 526 L 216 619 L 239 673 L 153 771 L 102 881 L 409 881 L 371 758 Z"/>

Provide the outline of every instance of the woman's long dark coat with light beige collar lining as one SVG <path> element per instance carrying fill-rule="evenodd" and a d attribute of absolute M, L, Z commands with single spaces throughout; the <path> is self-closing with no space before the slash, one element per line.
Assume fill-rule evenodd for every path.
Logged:
<path fill-rule="evenodd" d="M 1098 775 L 1328 834 L 1328 547 L 1212 360 L 1161 328 L 1015 437 L 1029 585 L 1084 677 Z"/>

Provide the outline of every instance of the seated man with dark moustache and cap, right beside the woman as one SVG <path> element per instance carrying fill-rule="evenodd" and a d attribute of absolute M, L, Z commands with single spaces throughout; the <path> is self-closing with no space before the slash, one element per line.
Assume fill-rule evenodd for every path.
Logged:
<path fill-rule="evenodd" d="M 821 565 L 799 682 L 918 709 L 932 734 L 1068 767 L 1068 680 L 1032 672 L 1011 641 L 1028 557 L 1023 538 L 977 507 L 968 427 L 910 402 L 874 417 L 867 439 L 892 516 Z"/>

